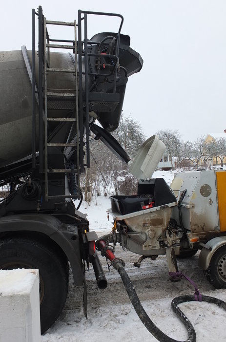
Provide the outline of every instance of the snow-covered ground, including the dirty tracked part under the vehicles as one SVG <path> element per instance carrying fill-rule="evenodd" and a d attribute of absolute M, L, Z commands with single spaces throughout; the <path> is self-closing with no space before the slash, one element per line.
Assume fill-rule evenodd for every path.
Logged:
<path fill-rule="evenodd" d="M 163 177 L 170 184 L 173 172 L 156 171 L 153 177 Z M 110 200 L 100 196 L 97 205 L 88 206 L 84 202 L 80 208 L 83 213 L 87 213 L 90 229 L 96 230 L 99 235 L 110 232 L 112 227 L 111 217 L 107 221 L 106 211 L 109 207 Z M 141 268 L 137 269 L 133 267 L 133 262 L 138 256 L 123 252 L 120 246 L 116 248 L 115 254 L 124 259 L 125 268 L 149 317 L 165 334 L 176 340 L 185 341 L 186 330 L 172 312 L 171 300 L 181 294 L 193 294 L 193 287 L 186 280 L 178 283 L 167 281 L 165 256 L 159 256 L 152 262 L 144 260 Z M 42 342 L 157 341 L 139 320 L 118 273 L 111 268 L 108 275 L 105 259 L 102 258 L 101 261 L 108 287 L 105 290 L 97 288 L 93 269 L 90 268 L 86 276 L 88 319 L 86 320 L 83 315 L 82 289 L 75 289 L 71 279 L 65 308 L 58 321 L 42 336 Z M 205 279 L 198 267 L 198 256 L 182 259 L 178 266 L 179 270 L 197 283 L 202 294 L 226 301 L 226 291 L 214 289 Z M 205 302 L 187 302 L 181 304 L 180 308 L 194 325 L 197 342 L 226 341 L 226 311 Z"/>

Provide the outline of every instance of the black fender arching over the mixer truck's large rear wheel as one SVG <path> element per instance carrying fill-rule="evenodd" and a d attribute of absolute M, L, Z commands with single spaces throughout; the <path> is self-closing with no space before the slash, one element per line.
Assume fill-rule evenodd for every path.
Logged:
<path fill-rule="evenodd" d="M 75 286 L 83 284 L 82 257 L 78 227 L 64 224 L 49 214 L 17 214 L 0 217 L 0 233 L 29 231 L 49 236 L 67 256 Z"/>

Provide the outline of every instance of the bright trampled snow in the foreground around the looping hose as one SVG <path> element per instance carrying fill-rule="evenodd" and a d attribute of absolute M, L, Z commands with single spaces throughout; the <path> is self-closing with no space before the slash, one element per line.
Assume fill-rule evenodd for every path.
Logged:
<path fill-rule="evenodd" d="M 219 298 L 224 298 L 218 294 Z M 154 299 L 143 303 L 144 309 L 152 321 L 169 337 L 186 341 L 187 332 L 173 313 L 172 298 Z M 187 302 L 180 305 L 193 324 L 197 342 L 225 341 L 226 313 L 223 309 L 205 302 Z M 101 310 L 92 309 L 86 320 L 80 314 L 71 313 L 63 321 L 42 336 L 42 342 L 144 342 L 157 341 L 144 327 L 132 305 L 115 303 L 113 307 L 104 305 Z"/>

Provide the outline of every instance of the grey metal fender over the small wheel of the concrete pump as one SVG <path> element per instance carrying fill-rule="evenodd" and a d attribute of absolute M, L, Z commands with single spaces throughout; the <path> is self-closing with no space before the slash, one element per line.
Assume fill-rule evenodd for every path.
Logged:
<path fill-rule="evenodd" d="M 207 270 L 214 253 L 222 246 L 226 245 L 226 236 L 218 236 L 206 242 L 199 255 L 199 266 Z"/>

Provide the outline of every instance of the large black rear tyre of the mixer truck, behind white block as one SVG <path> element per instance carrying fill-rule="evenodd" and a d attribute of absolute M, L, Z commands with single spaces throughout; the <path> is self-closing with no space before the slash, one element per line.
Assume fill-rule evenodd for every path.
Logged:
<path fill-rule="evenodd" d="M 36 268 L 40 274 L 40 318 L 43 334 L 62 312 L 68 291 L 68 261 L 58 246 L 30 238 L 1 239 L 0 269 Z"/>

